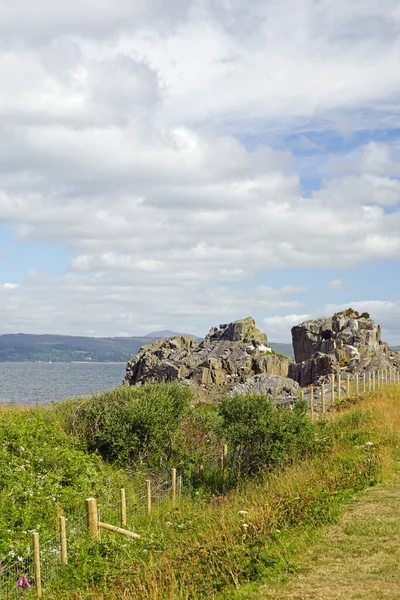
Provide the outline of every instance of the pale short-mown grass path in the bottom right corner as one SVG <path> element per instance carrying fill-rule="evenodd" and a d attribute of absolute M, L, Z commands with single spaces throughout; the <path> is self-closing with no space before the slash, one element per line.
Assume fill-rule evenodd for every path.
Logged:
<path fill-rule="evenodd" d="M 400 475 L 349 505 L 285 583 L 252 600 L 400 600 Z"/>

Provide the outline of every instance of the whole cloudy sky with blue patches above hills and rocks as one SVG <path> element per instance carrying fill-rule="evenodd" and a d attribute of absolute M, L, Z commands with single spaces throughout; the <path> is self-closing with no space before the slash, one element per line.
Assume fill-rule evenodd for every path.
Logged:
<path fill-rule="evenodd" d="M 0 333 L 400 344 L 400 0 L 0 0 Z"/>

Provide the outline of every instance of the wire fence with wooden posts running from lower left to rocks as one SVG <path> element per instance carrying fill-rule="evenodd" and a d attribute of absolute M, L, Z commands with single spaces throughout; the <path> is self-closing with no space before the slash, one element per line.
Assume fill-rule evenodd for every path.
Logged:
<path fill-rule="evenodd" d="M 335 404 L 344 398 L 353 398 L 361 394 L 374 392 L 388 384 L 400 384 L 400 371 L 377 370 L 364 373 L 360 376 L 350 374 L 332 374 L 329 381 L 321 383 L 317 388 L 310 386 L 300 392 L 300 397 L 309 403 L 311 418 L 324 415 L 332 410 Z M 222 447 L 219 465 L 225 476 L 228 465 L 228 447 Z M 203 465 L 199 465 L 201 471 Z M 147 480 L 144 490 L 136 494 L 125 495 L 125 490 L 120 489 L 114 494 L 114 499 L 101 500 L 96 503 L 95 530 L 99 537 L 101 527 L 107 525 L 113 531 L 135 535 L 137 524 L 143 521 L 146 515 L 153 510 L 168 503 L 174 504 L 181 497 L 183 490 L 189 489 L 191 481 L 183 481 L 176 469 L 172 469 L 172 478 L 153 485 Z M 86 501 L 86 503 L 88 500 Z M 63 564 L 67 561 L 67 540 L 71 548 L 83 539 L 90 539 L 90 515 L 88 506 L 82 500 L 81 514 L 63 516 L 59 505 L 55 507 L 59 533 L 38 544 L 37 532 L 32 532 L 32 543 L 27 545 L 24 556 L 8 556 L 0 561 L 0 600 L 21 599 L 26 593 L 31 596 L 41 597 L 42 590 L 54 589 L 57 578 L 60 576 Z M 63 525 L 64 519 L 64 525 Z M 63 530 L 65 526 L 65 530 Z M 93 530 L 92 530 L 93 533 Z M 93 536 L 92 536 L 93 537 Z M 35 542 L 36 540 L 36 542 Z M 64 540 L 64 547 L 63 547 Z M 92 539 L 95 543 L 95 539 Z"/>

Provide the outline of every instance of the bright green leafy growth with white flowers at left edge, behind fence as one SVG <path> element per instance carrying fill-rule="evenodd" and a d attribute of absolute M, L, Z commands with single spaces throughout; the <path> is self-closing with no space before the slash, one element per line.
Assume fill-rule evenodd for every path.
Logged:
<path fill-rule="evenodd" d="M 0 556 L 23 555 L 32 530 L 54 535 L 56 499 L 66 513 L 82 513 L 88 496 L 107 499 L 111 473 L 76 447 L 51 410 L 0 411 Z"/>

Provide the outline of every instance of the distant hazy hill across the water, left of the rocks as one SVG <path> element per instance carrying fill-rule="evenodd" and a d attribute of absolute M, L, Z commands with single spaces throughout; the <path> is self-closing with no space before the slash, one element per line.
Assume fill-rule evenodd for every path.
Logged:
<path fill-rule="evenodd" d="M 69 335 L 0 335 L 0 362 L 126 362 L 148 337 L 93 338 Z"/>

